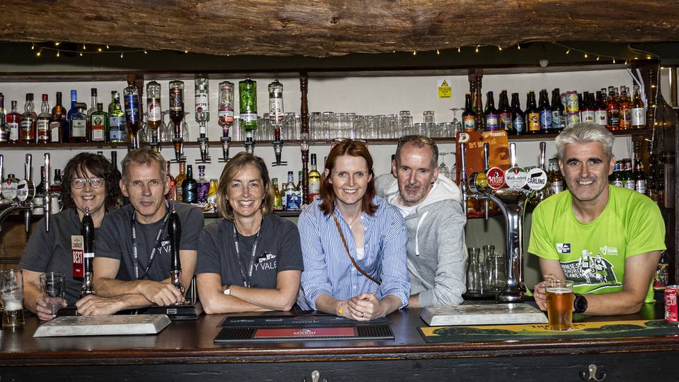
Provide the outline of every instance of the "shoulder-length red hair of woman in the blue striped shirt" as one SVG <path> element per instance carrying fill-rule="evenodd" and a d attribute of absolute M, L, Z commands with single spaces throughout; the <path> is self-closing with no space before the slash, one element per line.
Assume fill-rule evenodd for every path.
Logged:
<path fill-rule="evenodd" d="M 362 210 L 366 214 L 373 215 L 377 211 L 377 206 L 372 204 L 372 200 L 375 197 L 375 174 L 372 169 L 372 157 L 365 143 L 359 141 L 353 141 L 352 139 L 346 139 L 340 142 L 338 145 L 333 147 L 328 154 L 328 159 L 326 160 L 326 170 L 329 174 L 333 173 L 333 168 L 335 167 L 335 162 L 337 158 L 342 157 L 342 155 L 349 155 L 350 157 L 361 157 L 365 159 L 368 165 L 368 173 L 372 175 L 372 179 L 368 182 L 365 194 L 362 199 Z M 333 189 L 333 184 L 330 184 L 328 177 L 326 177 L 326 172 L 323 171 L 321 175 L 321 211 L 323 214 L 332 214 L 335 210 L 335 190 Z"/>

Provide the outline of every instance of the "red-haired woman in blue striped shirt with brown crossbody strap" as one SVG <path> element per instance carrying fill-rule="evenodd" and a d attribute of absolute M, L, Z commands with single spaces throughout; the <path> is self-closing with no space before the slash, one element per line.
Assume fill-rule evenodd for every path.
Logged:
<path fill-rule="evenodd" d="M 320 198 L 299 217 L 305 310 L 369 321 L 408 304 L 406 223 L 375 196 L 372 164 L 365 143 L 333 145 Z"/>

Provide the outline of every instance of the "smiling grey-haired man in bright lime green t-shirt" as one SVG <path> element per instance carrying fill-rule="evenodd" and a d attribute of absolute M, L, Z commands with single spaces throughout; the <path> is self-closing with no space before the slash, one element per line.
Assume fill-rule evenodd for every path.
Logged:
<path fill-rule="evenodd" d="M 635 313 L 653 302 L 653 273 L 666 249 L 655 202 L 608 184 L 613 141 L 605 127 L 590 122 L 564 129 L 556 145 L 569 191 L 533 212 L 529 253 L 540 257 L 545 280 L 573 280 L 573 311 L 588 315 Z M 534 295 L 547 310 L 544 282 Z"/>

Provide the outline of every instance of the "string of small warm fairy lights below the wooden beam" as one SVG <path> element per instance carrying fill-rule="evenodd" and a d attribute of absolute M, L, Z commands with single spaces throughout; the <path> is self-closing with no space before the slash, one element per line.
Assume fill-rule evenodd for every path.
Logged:
<path fill-rule="evenodd" d="M 543 51 L 543 55 L 546 58 L 545 45 L 544 45 L 545 43 L 547 43 L 547 42 L 543 42 L 542 51 Z M 625 65 L 627 65 L 627 63 L 630 60 L 630 58 L 627 58 L 627 57 L 614 56 L 612 54 L 602 54 L 602 53 L 597 53 L 597 52 L 594 52 L 594 51 L 586 51 L 584 49 L 570 47 L 568 45 L 564 45 L 564 44 L 562 44 L 560 42 L 556 42 L 556 41 L 550 41 L 549 43 L 552 44 L 552 45 L 556 45 L 558 47 L 564 48 L 566 50 L 566 54 L 571 54 L 571 52 L 573 52 L 573 54 L 580 54 L 584 58 L 588 58 L 588 59 L 596 57 L 596 61 L 599 61 L 601 58 L 604 58 L 604 59 L 610 59 L 613 63 L 616 63 L 616 61 L 624 61 Z M 109 45 L 105 45 L 106 49 L 104 49 L 103 48 L 104 45 L 102 45 L 102 46 L 96 47 L 95 49 L 90 49 L 90 50 L 87 49 L 87 45 L 84 44 L 84 43 L 83 43 L 83 49 L 82 50 L 65 49 L 65 47 L 60 46 L 60 45 L 61 45 L 61 42 L 54 42 L 54 45 L 41 45 L 39 43 L 32 42 L 31 43 L 31 49 L 32 50 L 38 49 L 37 53 L 35 54 L 35 56 L 38 56 L 38 57 L 40 57 L 40 55 L 42 54 L 42 51 L 56 52 L 57 57 L 60 57 L 62 53 L 76 54 L 76 55 L 80 55 L 80 56 L 83 56 L 85 54 L 120 54 L 120 58 L 125 58 L 125 54 L 134 54 L 134 53 L 141 53 L 141 52 L 143 52 L 144 54 L 148 54 L 147 49 L 110 49 Z M 497 46 L 493 46 L 493 45 L 468 45 L 466 47 L 471 47 L 472 49 L 474 49 L 474 53 L 479 53 L 479 49 L 481 49 L 481 48 L 484 48 L 484 49 L 486 49 L 486 48 L 488 48 L 488 49 L 497 48 L 499 51 L 502 51 L 502 47 L 497 47 Z M 463 47 L 457 47 L 458 53 L 462 53 L 462 48 Z M 506 48 L 506 49 L 509 49 L 509 48 Z M 517 44 L 516 49 L 520 50 L 521 44 Z M 637 56 L 634 57 L 635 60 L 638 60 L 640 56 L 641 57 L 645 56 L 645 58 L 647 58 L 647 59 L 660 58 L 660 56 L 657 56 L 656 54 L 650 53 L 648 51 L 641 51 L 639 49 L 634 49 L 634 48 L 632 48 L 632 46 L 630 44 L 627 45 L 627 49 L 629 51 L 631 51 L 632 53 L 634 53 L 635 55 L 637 55 Z M 184 51 L 184 54 L 188 54 L 188 53 L 189 53 L 188 50 Z M 394 53 L 396 53 L 396 51 L 394 51 Z M 436 49 L 436 54 L 440 54 L 439 49 Z M 417 51 L 413 51 L 413 56 L 416 56 L 416 55 L 417 55 Z"/>

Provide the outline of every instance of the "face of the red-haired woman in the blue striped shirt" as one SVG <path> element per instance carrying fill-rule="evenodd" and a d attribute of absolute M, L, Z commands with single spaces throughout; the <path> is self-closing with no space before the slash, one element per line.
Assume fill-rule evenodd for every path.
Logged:
<path fill-rule="evenodd" d="M 349 207 L 360 202 L 372 180 L 368 162 L 363 157 L 342 155 L 335 159 L 333 173 L 326 168 L 328 182 L 333 185 L 338 207 Z"/>

